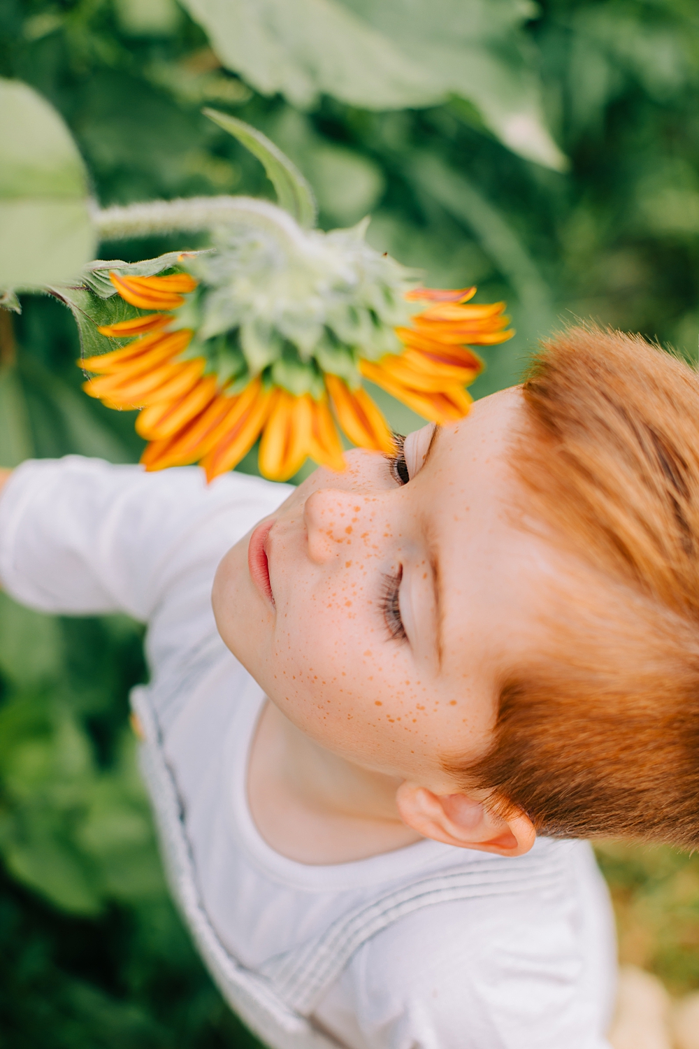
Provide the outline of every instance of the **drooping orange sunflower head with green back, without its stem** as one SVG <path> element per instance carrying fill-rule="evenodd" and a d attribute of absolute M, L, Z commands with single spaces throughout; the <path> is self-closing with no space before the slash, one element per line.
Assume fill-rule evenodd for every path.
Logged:
<path fill-rule="evenodd" d="M 514 334 L 504 303 L 472 304 L 474 287 L 416 286 L 413 271 L 367 244 L 366 223 L 308 231 L 250 204 L 177 272 L 110 274 L 121 299 L 147 313 L 100 327 L 122 344 L 81 362 L 85 389 L 140 409 L 147 469 L 200 463 L 212 479 L 261 437 L 266 477 L 287 479 L 307 456 L 342 470 L 338 426 L 391 453 L 365 380 L 434 422 L 466 414 L 465 387 L 483 367 L 471 347 Z"/>

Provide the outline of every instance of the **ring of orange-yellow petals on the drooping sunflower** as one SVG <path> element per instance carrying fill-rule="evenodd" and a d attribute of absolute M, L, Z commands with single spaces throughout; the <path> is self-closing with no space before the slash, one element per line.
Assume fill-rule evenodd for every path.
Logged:
<path fill-rule="evenodd" d="M 150 312 L 99 328 L 129 341 L 80 362 L 91 373 L 84 389 L 110 408 L 139 409 L 136 431 L 149 442 L 141 457 L 146 469 L 199 463 L 212 480 L 233 469 L 261 436 L 260 471 L 272 480 L 292 476 L 308 456 L 340 471 L 344 459 L 336 423 L 354 445 L 393 451 L 391 430 L 361 381 L 330 370 L 319 374 L 315 365 L 320 383 L 298 392 L 275 382 L 271 366 L 254 376 L 247 368 L 241 382 L 212 363 L 206 341 L 187 324 L 188 317 L 197 316 L 196 309 L 188 313 L 188 303 L 201 291 L 196 277 L 111 272 L 110 280 L 122 299 Z M 427 303 L 427 308 L 393 329 L 398 352 L 377 360 L 359 357 L 359 374 L 428 420 L 461 419 L 472 402 L 465 386 L 483 368 L 469 346 L 494 345 L 514 335 L 504 303 L 468 304 L 475 292 L 418 287 L 403 293 L 408 303 Z"/>

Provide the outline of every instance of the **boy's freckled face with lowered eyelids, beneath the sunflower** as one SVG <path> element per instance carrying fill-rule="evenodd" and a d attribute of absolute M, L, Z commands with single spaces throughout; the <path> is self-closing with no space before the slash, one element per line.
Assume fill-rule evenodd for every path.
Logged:
<path fill-rule="evenodd" d="M 523 411 L 514 388 L 411 434 L 406 485 L 375 452 L 316 470 L 214 584 L 223 640 L 291 722 L 435 793 L 454 789 L 444 757 L 487 749 L 503 678 L 541 647 L 543 592 L 561 574 L 517 527 L 508 454 Z"/>

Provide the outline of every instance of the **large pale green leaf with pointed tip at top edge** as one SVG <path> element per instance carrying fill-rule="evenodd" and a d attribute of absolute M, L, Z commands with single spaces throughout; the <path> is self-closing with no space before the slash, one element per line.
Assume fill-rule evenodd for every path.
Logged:
<path fill-rule="evenodd" d="M 363 109 L 458 95 L 506 146 L 567 166 L 544 120 L 521 0 L 183 0 L 230 69 L 264 94 L 311 108 L 321 94 Z"/>

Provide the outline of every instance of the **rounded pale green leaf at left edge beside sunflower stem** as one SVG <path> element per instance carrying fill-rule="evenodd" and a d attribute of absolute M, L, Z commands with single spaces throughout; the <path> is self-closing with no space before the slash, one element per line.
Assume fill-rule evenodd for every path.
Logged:
<path fill-rule="evenodd" d="M 0 290 L 69 279 L 94 247 L 70 132 L 30 87 L 0 78 Z"/>

